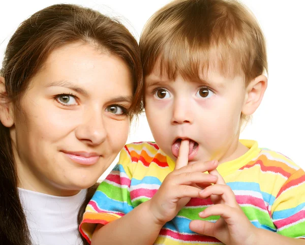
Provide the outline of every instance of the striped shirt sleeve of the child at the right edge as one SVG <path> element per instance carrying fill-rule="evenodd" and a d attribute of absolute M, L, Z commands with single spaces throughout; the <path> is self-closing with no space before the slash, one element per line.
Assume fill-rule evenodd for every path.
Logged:
<path fill-rule="evenodd" d="M 277 233 L 305 239 L 305 172 L 295 171 L 282 186 L 271 208 Z"/>

